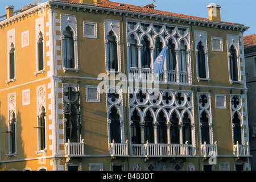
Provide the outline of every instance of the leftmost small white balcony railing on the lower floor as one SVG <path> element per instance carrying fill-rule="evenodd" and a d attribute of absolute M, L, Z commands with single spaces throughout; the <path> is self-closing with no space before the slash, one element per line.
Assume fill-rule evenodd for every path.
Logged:
<path fill-rule="evenodd" d="M 64 143 L 64 155 L 65 157 L 79 157 L 84 155 L 84 139 L 79 142 Z"/>

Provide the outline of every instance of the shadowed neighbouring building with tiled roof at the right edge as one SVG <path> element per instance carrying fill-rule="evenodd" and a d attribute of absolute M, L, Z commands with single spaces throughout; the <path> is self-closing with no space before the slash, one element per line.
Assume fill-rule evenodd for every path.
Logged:
<path fill-rule="evenodd" d="M 256 104 L 256 35 L 243 36 L 243 45 L 245 46 L 245 71 L 246 71 L 246 85 L 248 88 L 247 98 L 248 101 L 248 119 L 249 119 L 249 136 L 250 136 L 250 154 L 251 170 L 256 170 L 255 159 L 255 134 L 256 134 L 256 121 L 255 121 L 255 104 Z"/>

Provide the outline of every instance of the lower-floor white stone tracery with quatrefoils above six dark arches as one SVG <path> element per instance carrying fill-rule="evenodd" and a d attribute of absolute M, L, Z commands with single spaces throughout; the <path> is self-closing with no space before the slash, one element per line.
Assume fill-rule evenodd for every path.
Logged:
<path fill-rule="evenodd" d="M 132 143 L 195 144 L 192 92 L 163 89 L 157 99 L 151 94 L 151 90 L 129 89 Z"/>

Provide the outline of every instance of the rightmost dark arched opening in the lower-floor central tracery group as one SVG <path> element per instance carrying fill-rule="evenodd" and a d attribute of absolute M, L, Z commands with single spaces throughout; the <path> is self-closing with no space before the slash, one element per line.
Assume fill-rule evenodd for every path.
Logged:
<path fill-rule="evenodd" d="M 183 122 L 183 127 L 182 127 L 183 143 L 188 142 L 188 144 L 192 144 L 191 119 L 189 118 L 189 115 L 187 112 L 184 114 L 182 122 Z"/>

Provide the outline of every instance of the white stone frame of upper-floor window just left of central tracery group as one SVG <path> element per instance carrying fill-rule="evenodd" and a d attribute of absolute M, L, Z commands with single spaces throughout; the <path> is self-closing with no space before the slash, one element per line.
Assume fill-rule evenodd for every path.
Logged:
<path fill-rule="evenodd" d="M 109 68 L 108 60 L 108 39 L 107 36 L 109 32 L 113 31 L 115 38 L 117 39 L 117 62 L 118 62 L 118 71 L 111 71 Z M 119 20 L 114 19 L 104 19 L 104 35 L 105 35 L 105 60 L 106 60 L 106 72 L 108 75 L 112 72 L 122 73 L 121 71 L 121 39 L 120 39 L 120 22 Z"/>

